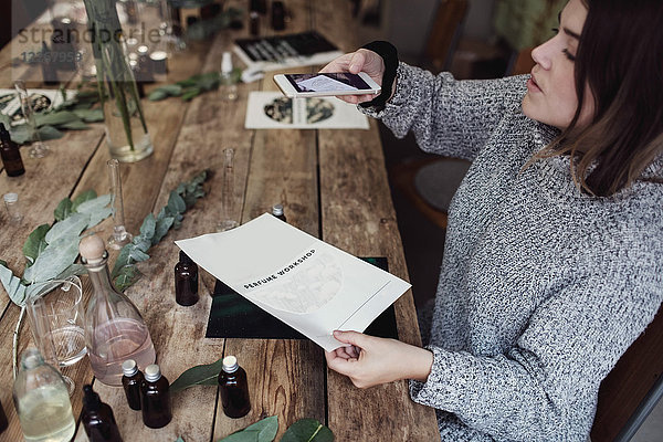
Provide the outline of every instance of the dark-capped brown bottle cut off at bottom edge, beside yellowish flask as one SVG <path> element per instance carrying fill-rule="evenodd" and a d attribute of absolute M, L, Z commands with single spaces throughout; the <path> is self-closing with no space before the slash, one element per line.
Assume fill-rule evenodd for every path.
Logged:
<path fill-rule="evenodd" d="M 110 407 L 102 402 L 92 386 L 83 386 L 83 393 L 81 420 L 90 442 L 123 442 Z"/>

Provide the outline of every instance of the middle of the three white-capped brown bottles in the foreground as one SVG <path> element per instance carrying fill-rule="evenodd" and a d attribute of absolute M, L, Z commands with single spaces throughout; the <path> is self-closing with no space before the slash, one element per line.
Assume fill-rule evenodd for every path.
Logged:
<path fill-rule="evenodd" d="M 145 382 L 140 386 L 140 409 L 143 423 L 149 428 L 166 427 L 172 419 L 170 385 L 156 364 L 145 368 Z"/>

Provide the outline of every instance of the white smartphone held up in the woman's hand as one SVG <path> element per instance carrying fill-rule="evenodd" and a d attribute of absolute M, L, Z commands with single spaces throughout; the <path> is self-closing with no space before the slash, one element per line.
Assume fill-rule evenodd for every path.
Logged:
<path fill-rule="evenodd" d="M 367 73 L 278 74 L 274 82 L 283 95 L 294 97 L 378 94 L 380 86 Z"/>

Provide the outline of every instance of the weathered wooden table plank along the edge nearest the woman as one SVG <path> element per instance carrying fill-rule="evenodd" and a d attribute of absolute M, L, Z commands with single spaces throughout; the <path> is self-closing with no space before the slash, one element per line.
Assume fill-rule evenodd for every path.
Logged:
<path fill-rule="evenodd" d="M 347 32 L 354 25 L 348 2 L 316 2 L 315 8 L 316 29 L 341 50 L 354 51 L 364 43 Z M 339 13 L 344 8 L 346 14 Z M 322 239 L 357 256 L 387 256 L 390 273 L 408 281 L 379 139 L 376 122 L 369 130 L 318 130 Z M 411 291 L 394 308 L 399 339 L 420 346 Z M 412 402 L 406 381 L 359 390 L 345 376 L 327 370 L 327 388 L 329 428 L 338 440 L 440 438 L 433 409 Z"/>

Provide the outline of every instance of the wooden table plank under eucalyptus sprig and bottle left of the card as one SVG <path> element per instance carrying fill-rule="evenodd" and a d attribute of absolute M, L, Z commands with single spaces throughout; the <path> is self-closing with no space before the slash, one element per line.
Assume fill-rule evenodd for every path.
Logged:
<path fill-rule="evenodd" d="M 229 35 L 221 33 L 209 46 L 202 72 L 218 69 L 221 64 L 221 54 L 229 48 Z M 188 76 L 188 75 L 187 75 Z M 240 85 L 240 96 L 256 85 Z M 201 270 L 199 295 L 200 301 L 191 307 L 179 306 L 175 302 L 172 269 L 178 260 L 179 249 L 172 242 L 177 239 L 190 238 L 213 232 L 219 221 L 219 203 L 223 185 L 223 157 L 221 148 L 232 146 L 236 150 L 235 170 L 238 176 L 245 177 L 251 147 L 251 138 L 239 130 L 244 122 L 244 105 L 241 99 L 227 103 L 221 99 L 220 92 L 210 92 L 194 98 L 183 117 L 183 120 L 171 122 L 170 125 L 181 130 L 177 134 L 177 144 L 171 158 L 167 159 L 168 168 L 164 178 L 159 177 L 160 186 L 156 187 L 158 196 L 156 204 L 146 201 L 135 201 L 135 209 L 148 207 L 158 211 L 168 201 L 169 192 L 180 182 L 191 178 L 197 171 L 209 168 L 215 171 L 206 185 L 208 194 L 185 214 L 185 222 L 179 231 L 171 231 L 160 244 L 150 250 L 150 260 L 140 264 L 144 278 L 127 291 L 128 296 L 144 313 L 144 318 L 150 329 L 157 360 L 164 375 L 172 382 L 182 371 L 200 364 L 210 364 L 222 356 L 223 339 L 204 339 L 207 320 L 211 306 L 211 292 L 214 278 Z M 164 107 L 182 107 L 180 98 L 169 98 L 157 103 Z M 221 124 L 220 124 L 221 123 Z M 175 138 L 175 137 L 173 137 Z M 144 161 L 141 161 L 144 162 Z M 131 175 L 139 179 L 148 170 L 135 172 L 131 165 L 124 176 L 131 180 Z M 124 170 L 123 170 L 124 172 Z M 145 177 L 144 177 L 145 179 Z M 241 201 L 244 193 L 244 180 L 238 179 L 235 194 Z M 145 196 L 146 189 L 136 192 Z M 131 207 L 131 206 L 129 206 Z M 239 203 L 236 219 L 240 219 L 242 204 Z M 127 211 L 128 213 L 128 211 Z M 143 213 L 140 219 L 145 215 Z M 138 227 L 138 218 L 129 225 Z M 114 409 L 115 418 L 120 429 L 130 429 L 131 440 L 172 440 L 183 436 L 187 441 L 204 441 L 211 438 L 212 422 L 214 420 L 214 403 L 217 388 L 194 387 L 173 396 L 173 420 L 167 427 L 151 430 L 143 425 L 139 412 L 126 406 L 124 392 L 120 389 L 103 386 L 97 382 L 95 387 L 102 398 Z M 203 406 L 201 406 L 203 404 Z M 126 434 L 125 434 L 126 436 Z M 86 440 L 82 429 L 78 430 L 76 440 Z"/>

